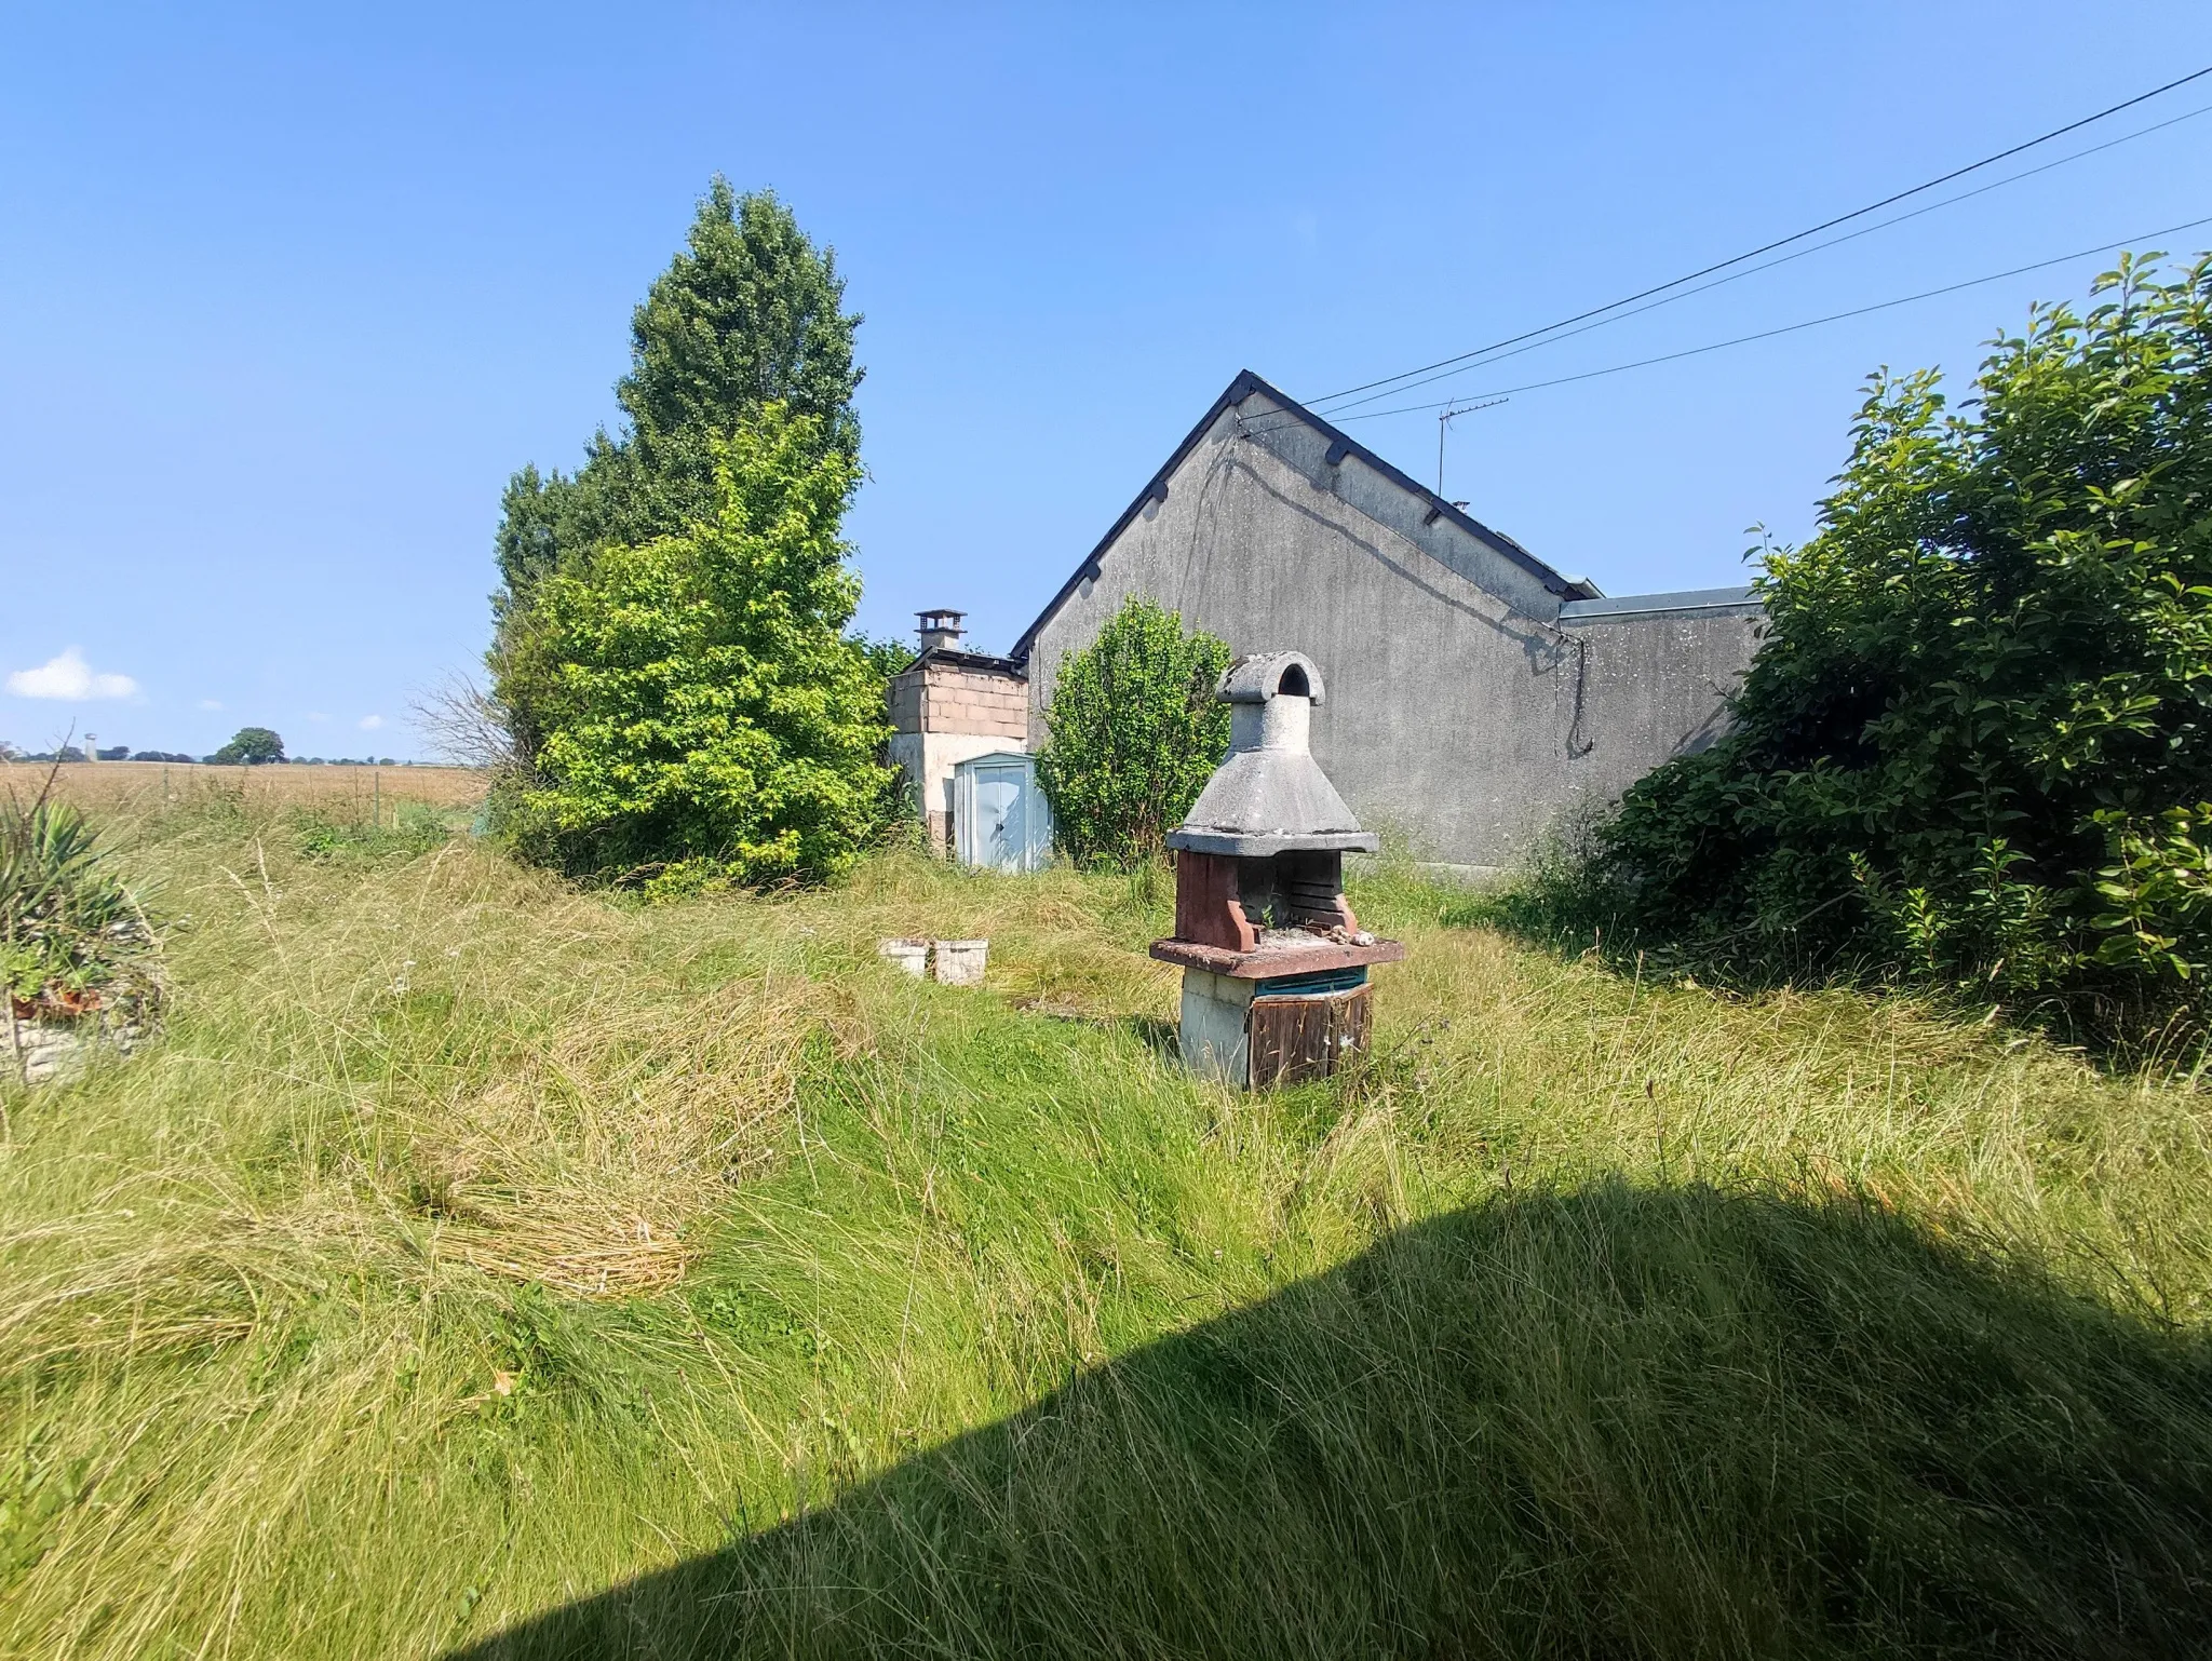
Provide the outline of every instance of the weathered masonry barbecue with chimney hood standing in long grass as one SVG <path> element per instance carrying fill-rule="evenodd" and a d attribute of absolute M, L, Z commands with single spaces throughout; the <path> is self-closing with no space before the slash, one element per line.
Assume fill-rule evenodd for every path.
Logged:
<path fill-rule="evenodd" d="M 1347 852 L 1374 854 L 1307 743 L 1321 670 L 1305 652 L 1241 657 L 1217 692 L 1230 754 L 1175 849 L 1175 936 L 1152 955 L 1183 971 L 1183 1062 L 1267 1088 L 1327 1077 L 1367 1048 L 1367 969 L 1405 947 L 1365 933 L 1345 902 Z"/>

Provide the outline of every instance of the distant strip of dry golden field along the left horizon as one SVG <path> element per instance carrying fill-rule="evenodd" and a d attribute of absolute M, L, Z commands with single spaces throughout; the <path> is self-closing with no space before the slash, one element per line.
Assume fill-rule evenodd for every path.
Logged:
<path fill-rule="evenodd" d="M 53 772 L 46 763 L 0 761 L 0 794 L 13 790 L 29 798 Z M 75 763 L 53 772 L 53 794 L 66 803 L 102 814 L 148 814 L 166 805 L 195 805 L 223 794 L 239 805 L 268 812 L 276 807 L 323 807 L 349 816 L 369 816 L 372 801 L 420 801 L 431 807 L 473 807 L 484 798 L 489 774 L 476 767 L 206 767 L 173 761 L 100 761 Z"/>

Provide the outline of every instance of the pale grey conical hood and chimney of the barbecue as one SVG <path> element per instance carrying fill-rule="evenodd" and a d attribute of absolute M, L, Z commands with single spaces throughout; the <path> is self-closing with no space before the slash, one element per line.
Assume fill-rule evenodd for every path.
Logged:
<path fill-rule="evenodd" d="M 1312 752 L 1314 706 L 1325 690 L 1305 652 L 1241 657 L 1221 677 L 1230 754 L 1206 781 L 1168 847 L 1265 858 L 1294 852 L 1374 854 L 1383 843 L 1345 807 Z"/>

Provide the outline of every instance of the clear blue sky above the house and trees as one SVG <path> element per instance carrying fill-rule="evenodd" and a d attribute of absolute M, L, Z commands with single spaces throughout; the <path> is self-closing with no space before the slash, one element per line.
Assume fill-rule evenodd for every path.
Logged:
<path fill-rule="evenodd" d="M 482 652 L 502 482 L 613 420 L 717 170 L 867 314 L 860 621 L 960 606 L 1004 650 L 1237 369 L 1325 394 L 1677 276 L 2212 64 L 2212 9 L 11 7 L 4 38 L 0 739 L 407 756 L 409 697 Z M 2199 219 L 2208 153 L 2183 119 L 1436 391 Z M 1745 526 L 1812 529 L 1867 369 L 1971 374 L 2101 263 L 1522 391 L 1444 482 L 1608 593 L 1741 582 Z M 1349 431 L 1433 473 L 1433 416 Z"/>

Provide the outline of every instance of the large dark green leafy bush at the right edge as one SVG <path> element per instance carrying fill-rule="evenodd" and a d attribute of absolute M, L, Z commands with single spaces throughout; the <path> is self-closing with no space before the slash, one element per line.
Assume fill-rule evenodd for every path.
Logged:
<path fill-rule="evenodd" d="M 2212 259 L 1876 376 L 1732 730 L 1628 790 L 1586 918 L 2106 1040 L 2212 1013 Z"/>

